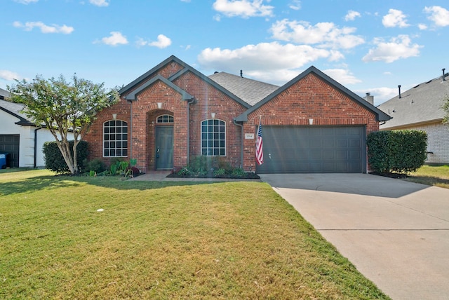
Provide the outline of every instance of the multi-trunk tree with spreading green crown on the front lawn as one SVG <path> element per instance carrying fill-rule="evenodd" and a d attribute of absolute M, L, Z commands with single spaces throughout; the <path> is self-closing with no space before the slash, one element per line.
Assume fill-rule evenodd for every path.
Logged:
<path fill-rule="evenodd" d="M 37 126 L 50 130 L 58 144 L 70 172 L 79 174 L 76 146 L 88 132 L 97 114 L 119 100 L 116 89 L 107 92 L 104 83 L 95 84 L 86 79 L 72 77 L 68 83 L 64 76 L 43 79 L 36 76 L 32 82 L 16 80 L 8 86 L 13 102 L 25 104 L 23 112 Z M 73 133 L 73 152 L 70 151 L 69 132 Z M 72 156 L 72 153 L 74 154 Z"/>

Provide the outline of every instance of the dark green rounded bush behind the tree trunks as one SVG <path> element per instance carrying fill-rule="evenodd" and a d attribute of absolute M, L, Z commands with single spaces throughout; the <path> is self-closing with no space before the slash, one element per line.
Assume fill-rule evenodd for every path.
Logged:
<path fill-rule="evenodd" d="M 73 149 L 73 144 L 74 141 L 69 141 L 70 149 Z M 88 143 L 86 141 L 81 141 L 79 142 L 78 146 L 76 146 L 79 172 L 83 172 L 85 170 L 84 163 L 86 162 L 88 156 L 87 148 Z M 57 172 L 59 174 L 65 174 L 70 172 L 69 167 L 67 166 L 67 163 L 65 163 L 64 157 L 62 157 L 61 151 L 58 148 L 58 144 L 56 144 L 56 141 L 45 142 L 43 144 L 42 151 L 46 169 L 52 170 L 53 172 Z"/>

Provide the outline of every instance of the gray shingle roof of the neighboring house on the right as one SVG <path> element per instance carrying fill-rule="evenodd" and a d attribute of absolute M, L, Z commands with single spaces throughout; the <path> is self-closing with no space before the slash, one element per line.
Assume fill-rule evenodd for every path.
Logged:
<path fill-rule="evenodd" d="M 449 74 L 436 79 L 420 83 L 397 95 L 378 107 L 386 111 L 393 118 L 381 129 L 399 128 L 406 125 L 442 121 L 444 111 L 441 109 L 443 99 L 449 96 Z"/>

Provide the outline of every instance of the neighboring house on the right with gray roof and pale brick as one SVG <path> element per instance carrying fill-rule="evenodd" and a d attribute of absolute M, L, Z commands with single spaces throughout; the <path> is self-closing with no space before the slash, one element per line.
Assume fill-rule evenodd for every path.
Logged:
<path fill-rule="evenodd" d="M 390 121 L 380 130 L 423 130 L 427 132 L 428 164 L 449 164 L 449 125 L 443 124 L 443 99 L 449 97 L 449 74 L 420 83 L 378 107 Z"/>

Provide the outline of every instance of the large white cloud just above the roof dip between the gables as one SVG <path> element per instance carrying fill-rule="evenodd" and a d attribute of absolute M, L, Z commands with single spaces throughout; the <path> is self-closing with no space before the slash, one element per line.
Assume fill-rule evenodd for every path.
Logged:
<path fill-rule="evenodd" d="M 244 73 L 253 79 L 283 84 L 297 76 L 304 65 L 322 58 L 331 59 L 335 55 L 335 51 L 308 45 L 281 45 L 272 42 L 234 50 L 206 48 L 199 54 L 198 62 L 202 69 L 230 73 L 243 69 Z"/>

